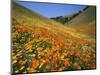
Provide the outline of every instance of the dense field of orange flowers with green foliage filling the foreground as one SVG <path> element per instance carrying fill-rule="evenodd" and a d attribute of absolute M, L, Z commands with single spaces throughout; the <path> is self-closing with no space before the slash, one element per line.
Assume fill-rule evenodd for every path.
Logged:
<path fill-rule="evenodd" d="M 93 69 L 96 67 L 95 42 L 93 41 L 75 37 L 67 37 L 64 41 L 55 37 L 57 35 L 52 35 L 53 33 L 51 34 L 45 28 L 33 29 L 27 26 L 14 26 L 13 29 L 16 30 L 13 32 L 13 34 L 16 34 L 13 35 L 16 38 L 16 41 L 13 42 L 13 49 L 16 52 L 13 52 L 12 57 L 16 58 L 12 61 L 18 61 L 13 64 L 15 73 L 16 71 L 17 73 L 34 73 Z M 27 32 L 28 38 L 26 38 L 26 34 L 22 36 L 24 32 Z M 28 32 L 31 32 L 31 34 Z M 21 44 L 18 35 L 28 39 L 27 42 Z M 21 41 L 23 41 L 23 38 Z M 21 71 L 18 68 L 16 69 L 16 67 L 26 65 L 27 67 L 22 68 Z"/>

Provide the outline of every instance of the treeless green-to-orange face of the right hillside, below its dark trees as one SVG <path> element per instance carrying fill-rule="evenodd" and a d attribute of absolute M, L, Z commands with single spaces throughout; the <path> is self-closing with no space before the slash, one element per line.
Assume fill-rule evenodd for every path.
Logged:
<path fill-rule="evenodd" d="M 77 32 L 85 33 L 94 38 L 96 33 L 96 7 L 88 7 L 66 25 L 76 28 Z"/>

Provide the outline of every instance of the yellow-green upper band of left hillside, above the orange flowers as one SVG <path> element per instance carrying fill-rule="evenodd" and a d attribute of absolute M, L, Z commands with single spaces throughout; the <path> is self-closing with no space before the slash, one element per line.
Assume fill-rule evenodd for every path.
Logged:
<path fill-rule="evenodd" d="M 87 37 L 86 35 L 82 35 L 82 34 L 80 36 L 80 34 L 74 32 L 75 31 L 74 29 L 65 27 L 56 21 L 41 16 L 40 14 L 37 14 L 16 3 L 13 4 L 12 18 L 14 20 L 13 25 L 24 25 L 33 28 L 43 27 L 48 29 L 50 32 L 53 32 L 54 34 L 57 35 L 59 34 L 59 37 L 61 38 L 62 35 L 64 35 L 63 37 L 67 36 L 65 35 L 66 33 L 69 33 L 70 35 L 74 35 L 75 37 Z"/>

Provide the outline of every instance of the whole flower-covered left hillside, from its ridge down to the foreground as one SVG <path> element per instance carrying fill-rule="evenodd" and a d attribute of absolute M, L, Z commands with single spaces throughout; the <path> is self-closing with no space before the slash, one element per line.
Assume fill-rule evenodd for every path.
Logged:
<path fill-rule="evenodd" d="M 13 73 L 95 69 L 95 48 L 87 35 L 13 3 Z"/>

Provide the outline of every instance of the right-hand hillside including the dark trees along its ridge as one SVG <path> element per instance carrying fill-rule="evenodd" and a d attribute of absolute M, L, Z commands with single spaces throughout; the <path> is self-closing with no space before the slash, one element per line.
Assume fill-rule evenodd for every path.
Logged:
<path fill-rule="evenodd" d="M 94 6 L 87 6 L 83 11 L 78 13 L 58 16 L 51 18 L 67 27 L 74 28 L 74 31 L 80 34 L 89 35 L 89 38 L 95 39 L 96 28 L 96 8 Z"/>

